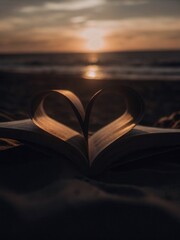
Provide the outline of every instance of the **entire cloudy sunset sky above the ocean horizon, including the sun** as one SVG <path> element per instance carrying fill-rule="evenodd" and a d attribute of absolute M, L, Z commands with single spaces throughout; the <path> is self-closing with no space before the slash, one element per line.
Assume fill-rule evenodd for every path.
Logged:
<path fill-rule="evenodd" d="M 0 53 L 180 49 L 180 0 L 0 0 Z"/>

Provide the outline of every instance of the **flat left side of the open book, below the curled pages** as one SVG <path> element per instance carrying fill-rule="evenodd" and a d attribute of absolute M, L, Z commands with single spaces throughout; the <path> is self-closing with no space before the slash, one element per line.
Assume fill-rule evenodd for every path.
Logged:
<path fill-rule="evenodd" d="M 64 131 L 63 126 L 62 129 Z M 62 136 L 59 126 L 57 132 Z M 74 135 L 70 132 L 70 138 L 65 137 L 64 141 L 45 132 L 36 126 L 31 119 L 25 119 L 0 123 L 0 138 L 1 137 L 20 140 L 27 144 L 31 143 L 37 150 L 43 150 L 43 148 L 50 151 L 53 150 L 53 154 L 55 155 L 59 152 L 61 155 L 64 155 L 79 165 L 81 169 L 88 166 L 84 138 L 76 134 L 76 132 Z"/>

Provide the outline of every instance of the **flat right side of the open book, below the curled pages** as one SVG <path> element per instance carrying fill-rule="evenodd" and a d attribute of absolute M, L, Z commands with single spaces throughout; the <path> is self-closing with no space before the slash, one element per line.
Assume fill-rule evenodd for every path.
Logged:
<path fill-rule="evenodd" d="M 135 126 L 101 151 L 92 162 L 93 173 L 112 165 L 123 165 L 180 147 L 180 129 Z"/>

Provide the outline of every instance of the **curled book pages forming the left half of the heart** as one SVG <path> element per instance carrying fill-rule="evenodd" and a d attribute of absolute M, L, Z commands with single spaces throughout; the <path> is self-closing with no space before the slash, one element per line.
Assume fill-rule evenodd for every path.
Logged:
<path fill-rule="evenodd" d="M 83 153 L 86 155 L 87 149 L 85 149 L 83 136 L 79 132 L 71 129 L 70 127 L 56 121 L 55 119 L 47 115 L 44 109 L 44 101 L 45 98 L 52 93 L 60 94 L 70 103 L 80 125 L 83 125 L 83 120 L 85 117 L 83 105 L 80 102 L 79 98 L 68 90 L 47 91 L 34 98 L 31 108 L 32 121 L 39 128 L 59 138 L 60 140 L 72 144 L 74 147 L 83 151 Z"/>

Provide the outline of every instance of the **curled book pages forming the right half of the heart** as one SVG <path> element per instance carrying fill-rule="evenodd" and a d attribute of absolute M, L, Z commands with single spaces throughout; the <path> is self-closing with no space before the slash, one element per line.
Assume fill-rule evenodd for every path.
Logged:
<path fill-rule="evenodd" d="M 132 89 L 122 87 L 119 92 L 126 103 L 126 110 L 116 120 L 103 127 L 89 139 L 89 160 L 90 164 L 105 149 L 117 139 L 133 129 L 142 118 L 144 104 L 141 97 Z"/>

